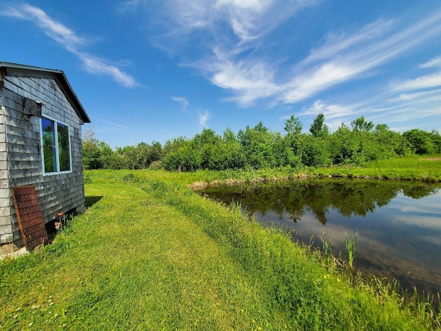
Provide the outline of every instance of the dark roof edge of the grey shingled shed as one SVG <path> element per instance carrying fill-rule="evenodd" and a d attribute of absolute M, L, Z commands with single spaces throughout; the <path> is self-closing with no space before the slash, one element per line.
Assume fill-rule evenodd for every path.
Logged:
<path fill-rule="evenodd" d="M 88 114 L 85 112 L 78 97 L 76 97 L 74 90 L 72 90 L 72 87 L 62 70 L 25 66 L 23 64 L 10 62 L 0 62 L 0 68 L 3 68 L 6 76 L 47 77 L 55 79 L 81 121 L 83 121 L 83 123 L 90 123 Z"/>

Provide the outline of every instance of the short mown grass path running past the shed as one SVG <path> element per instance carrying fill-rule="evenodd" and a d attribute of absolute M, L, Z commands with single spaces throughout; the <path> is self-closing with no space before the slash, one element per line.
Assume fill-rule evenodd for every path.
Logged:
<path fill-rule="evenodd" d="M 0 330 L 283 327 L 189 217 L 132 183 L 87 185 L 87 195 L 101 199 L 45 252 L 3 267 Z"/>

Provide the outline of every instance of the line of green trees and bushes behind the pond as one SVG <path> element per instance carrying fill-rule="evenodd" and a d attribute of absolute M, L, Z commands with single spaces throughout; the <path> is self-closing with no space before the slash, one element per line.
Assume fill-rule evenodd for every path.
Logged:
<path fill-rule="evenodd" d="M 291 116 L 284 132 L 273 132 L 262 122 L 247 126 L 235 134 L 227 128 L 222 135 L 204 128 L 193 138 L 178 137 L 151 144 L 141 142 L 112 150 L 94 137 L 90 127 L 83 134 L 83 167 L 85 169 L 146 169 L 194 171 L 199 169 L 259 169 L 307 166 L 361 164 L 409 154 L 441 152 L 441 135 L 412 129 L 402 134 L 386 124 L 374 126 L 359 117 L 349 126 L 342 123 L 330 132 L 325 116 L 318 114 L 302 132 L 302 123 Z"/>

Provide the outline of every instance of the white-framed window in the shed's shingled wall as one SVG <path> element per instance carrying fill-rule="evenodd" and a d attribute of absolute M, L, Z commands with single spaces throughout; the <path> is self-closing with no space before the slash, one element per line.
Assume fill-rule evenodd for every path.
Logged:
<path fill-rule="evenodd" d="M 41 117 L 43 174 L 72 172 L 70 128 L 50 117 Z"/>

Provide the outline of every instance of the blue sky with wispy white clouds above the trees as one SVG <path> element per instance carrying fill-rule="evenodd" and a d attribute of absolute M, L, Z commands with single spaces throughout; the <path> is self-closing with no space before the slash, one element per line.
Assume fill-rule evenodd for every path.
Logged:
<path fill-rule="evenodd" d="M 112 148 L 320 112 L 441 132 L 438 0 L 0 0 L 0 44 L 63 70 Z"/>

